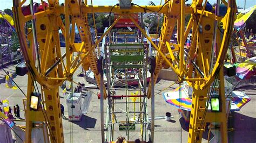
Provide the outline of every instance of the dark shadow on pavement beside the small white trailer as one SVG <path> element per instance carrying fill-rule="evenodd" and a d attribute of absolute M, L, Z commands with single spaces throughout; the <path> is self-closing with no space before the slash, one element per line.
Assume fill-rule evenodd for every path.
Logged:
<path fill-rule="evenodd" d="M 83 115 L 80 121 L 72 121 L 72 123 L 79 127 L 89 130 L 88 128 L 95 128 L 97 119 Z"/>

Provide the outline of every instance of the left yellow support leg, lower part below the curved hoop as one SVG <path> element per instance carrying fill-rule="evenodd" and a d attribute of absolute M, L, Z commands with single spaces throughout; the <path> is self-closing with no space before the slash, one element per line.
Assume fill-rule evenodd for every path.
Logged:
<path fill-rule="evenodd" d="M 30 74 L 30 73 L 29 73 Z M 33 94 L 33 80 L 31 76 L 28 78 L 28 98 L 26 103 L 26 141 L 31 142 L 31 139 L 36 139 L 32 137 L 32 130 L 36 124 L 48 125 L 48 131 L 50 134 L 51 142 L 64 142 L 62 117 L 60 113 L 60 101 L 59 101 L 59 91 L 56 89 L 43 89 L 41 94 L 41 99 L 43 95 L 45 96 L 43 104 L 44 106 L 39 106 L 38 110 L 30 110 L 30 97 Z M 37 88 L 36 88 L 37 89 Z M 38 91 L 37 91 L 38 94 Z M 40 98 L 39 98 L 40 99 Z M 42 108 L 40 108 L 42 107 Z M 43 131 L 44 132 L 44 131 Z M 49 137 L 44 138 L 43 142 L 49 142 Z"/>

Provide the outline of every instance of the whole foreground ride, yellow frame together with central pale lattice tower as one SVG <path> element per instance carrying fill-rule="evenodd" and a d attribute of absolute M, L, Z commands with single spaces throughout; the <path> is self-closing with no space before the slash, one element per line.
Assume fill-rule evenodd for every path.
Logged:
<path fill-rule="evenodd" d="M 179 82 L 186 81 L 193 88 L 191 120 L 189 124 L 188 142 L 200 142 L 206 123 L 214 124 L 213 130 L 220 131 L 218 140 L 227 142 L 227 117 L 224 91 L 223 61 L 228 49 L 233 23 L 235 20 L 235 1 L 221 1 L 225 9 L 219 7 L 220 1 L 212 11 L 206 10 L 206 1 L 194 0 L 191 5 L 186 5 L 185 0 L 165 1 L 163 5 L 140 6 L 131 3 L 130 0 L 121 0 L 114 6 L 87 5 L 87 1 L 65 0 L 64 5 L 60 5 L 57 0 L 48 1 L 49 5 L 42 2 L 41 10 L 35 12 L 33 4 L 30 11 L 24 15 L 23 6 L 26 0 L 14 1 L 15 28 L 18 34 L 21 49 L 29 69 L 28 92 L 26 99 L 26 142 L 32 142 L 35 128 L 41 128 L 42 133 L 47 132 L 45 142 L 64 142 L 63 124 L 60 116 L 59 86 L 65 81 L 72 82 L 72 76 L 79 66 L 84 70 L 89 68 L 95 75 L 98 87 L 100 87 L 100 121 L 102 130 L 102 142 L 113 141 L 113 124 L 118 123 L 125 128 L 126 135 L 129 136 L 129 128 L 133 124 L 140 124 L 140 137 L 143 141 L 154 141 L 154 84 L 163 63 L 171 67 L 177 74 Z M 220 15 L 224 11 L 224 15 Z M 109 12 L 119 15 L 114 22 L 106 28 L 103 35 L 93 44 L 90 27 L 87 22 L 88 13 Z M 161 27 L 160 40 L 158 46 L 154 44 L 144 28 L 140 26 L 131 15 L 140 12 L 161 13 L 164 15 L 163 27 Z M 65 16 L 65 22 L 60 18 Z M 191 18 L 185 29 L 185 15 Z M 131 22 L 142 32 L 140 39 L 146 37 L 151 46 L 156 49 L 156 56 L 149 52 L 149 60 L 144 54 L 142 44 L 134 45 L 107 45 L 104 49 L 109 49 L 107 55 L 96 55 L 96 47 L 102 39 L 109 34 L 115 24 L 122 17 L 131 19 Z M 26 23 L 30 22 L 32 28 L 27 28 Z M 71 27 L 70 27 L 70 24 Z M 75 24 L 78 27 L 81 43 L 75 43 Z M 69 25 L 69 26 L 66 26 Z M 221 25 L 221 26 L 220 26 Z M 170 44 L 174 27 L 177 27 L 178 44 Z M 65 53 L 60 51 L 59 32 L 61 30 L 65 37 Z M 184 50 L 185 40 L 192 30 L 192 44 L 189 50 Z M 141 40 L 142 41 L 142 40 Z M 104 44 L 102 44 L 104 45 Z M 135 49 L 134 49 L 135 48 Z M 215 51 L 214 51 L 215 49 Z M 133 51 L 134 50 L 134 51 Z M 135 61 L 129 58 L 122 59 L 115 53 L 131 53 Z M 146 52 L 145 52 L 146 53 Z M 137 55 L 139 54 L 139 55 Z M 115 57 L 116 56 L 116 57 Z M 167 58 L 166 56 L 169 56 Z M 65 58 L 65 63 L 64 59 Z M 137 60 L 136 60 L 137 59 Z M 130 63 L 133 63 L 130 65 Z M 147 62 L 151 73 L 149 88 L 146 89 L 145 71 Z M 119 63 L 116 65 L 116 63 Z M 139 97 L 141 108 L 136 121 L 130 121 L 129 109 L 125 109 L 124 122 L 118 122 L 115 111 L 110 106 L 114 98 L 119 98 L 115 87 L 107 84 L 107 90 L 103 80 L 104 66 L 110 67 L 107 77 L 110 78 L 113 68 L 122 67 L 125 69 L 136 66 L 140 71 L 139 94 L 135 92 L 131 97 Z M 111 70 L 110 70 L 111 69 Z M 143 78 L 143 80 L 141 80 Z M 135 80 L 135 79 L 134 79 Z M 126 80 L 127 81 L 127 80 Z M 220 109 L 218 112 L 207 110 L 212 98 L 210 85 L 218 82 Z M 37 83 L 40 84 L 39 91 Z M 126 94 L 120 95 L 129 102 L 130 90 L 124 89 Z M 113 90 L 112 90 L 113 88 Z M 127 90 L 128 89 L 128 90 Z M 213 89 L 213 88 L 212 88 Z M 134 96 L 135 95 L 135 96 Z M 38 107 L 31 108 L 31 100 L 38 98 Z M 104 126 L 104 99 L 107 99 L 107 121 Z M 146 112 L 146 100 L 151 102 L 151 122 Z M 135 103 L 135 101 L 134 101 Z M 127 107 L 127 106 L 126 106 Z M 133 113 L 133 112 L 130 112 Z M 137 112 L 136 112 L 137 113 Z M 140 114 L 141 113 L 141 114 Z M 45 128 L 47 127 L 47 130 Z M 128 130 L 127 130 L 128 127 Z"/>

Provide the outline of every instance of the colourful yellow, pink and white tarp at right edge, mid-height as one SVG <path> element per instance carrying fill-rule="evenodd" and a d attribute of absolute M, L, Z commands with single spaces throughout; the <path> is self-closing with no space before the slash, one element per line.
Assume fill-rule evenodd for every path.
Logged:
<path fill-rule="evenodd" d="M 256 56 L 253 58 L 250 58 L 242 63 L 240 63 L 237 67 L 237 77 L 241 78 L 243 80 L 244 78 L 248 79 L 252 75 L 256 73 L 255 69 L 256 67 Z"/>

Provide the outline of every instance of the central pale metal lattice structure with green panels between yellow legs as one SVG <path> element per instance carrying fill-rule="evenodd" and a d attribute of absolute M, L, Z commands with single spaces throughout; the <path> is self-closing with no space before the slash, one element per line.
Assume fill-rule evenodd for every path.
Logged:
<path fill-rule="evenodd" d="M 136 39 L 136 37 L 133 37 Z M 107 110 L 105 141 L 119 135 L 127 140 L 148 140 L 151 124 L 147 112 L 147 56 L 140 43 L 111 44 L 105 49 Z M 103 70 L 104 71 L 104 70 Z M 137 132 L 132 131 L 139 131 Z M 117 136 L 118 135 L 118 136 Z M 149 139 L 151 140 L 151 138 Z"/>

